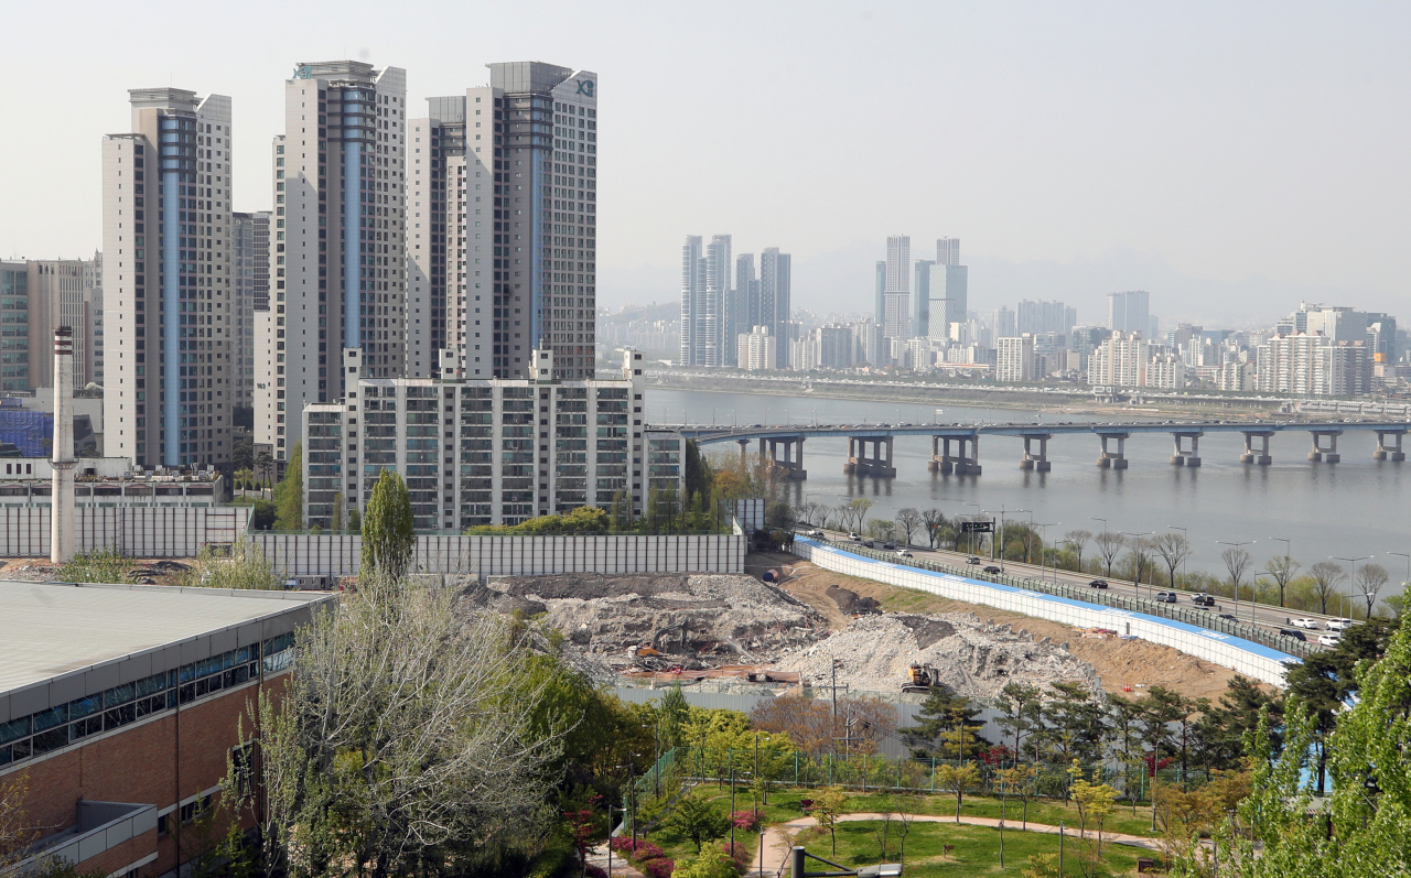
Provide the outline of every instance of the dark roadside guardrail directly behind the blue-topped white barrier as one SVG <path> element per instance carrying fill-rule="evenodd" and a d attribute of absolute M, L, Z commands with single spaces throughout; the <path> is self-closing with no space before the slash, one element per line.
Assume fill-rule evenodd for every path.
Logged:
<path fill-rule="evenodd" d="M 1149 598 L 1127 598 L 1126 595 L 1115 595 L 1105 589 L 1068 585 L 1064 582 L 1047 582 L 1044 579 L 1029 579 L 1027 576 L 1010 576 L 1007 574 L 985 574 L 975 569 L 952 567 L 950 564 L 938 564 L 935 561 L 917 561 L 916 558 L 900 558 L 895 552 L 866 548 L 865 545 L 852 543 L 851 540 L 830 540 L 828 537 L 810 537 L 810 538 L 831 545 L 834 548 L 840 548 L 852 552 L 855 555 L 861 555 L 864 558 L 872 558 L 873 561 L 886 561 L 888 564 L 895 564 L 899 567 L 914 567 L 919 569 L 934 571 L 938 574 L 951 574 L 954 576 L 975 579 L 979 582 L 995 582 L 999 585 L 1009 585 L 1013 588 L 1029 589 L 1031 592 L 1053 595 L 1055 598 L 1067 598 L 1070 600 L 1096 603 L 1102 606 L 1116 607 L 1120 610 L 1129 610 L 1133 613 L 1144 613 L 1147 616 L 1158 616 L 1161 619 L 1184 622 L 1185 624 L 1192 624 L 1211 631 L 1218 631 L 1221 634 L 1229 634 L 1232 637 L 1249 640 L 1252 643 L 1257 643 L 1298 658 L 1307 658 L 1308 655 L 1322 650 L 1322 647 L 1316 644 L 1304 640 L 1294 640 L 1292 637 L 1284 637 L 1283 634 L 1271 633 L 1259 626 L 1253 626 L 1245 622 L 1230 622 L 1229 619 L 1221 619 L 1219 616 L 1212 616 L 1209 612 L 1192 610 L 1178 605 L 1151 600 Z"/>

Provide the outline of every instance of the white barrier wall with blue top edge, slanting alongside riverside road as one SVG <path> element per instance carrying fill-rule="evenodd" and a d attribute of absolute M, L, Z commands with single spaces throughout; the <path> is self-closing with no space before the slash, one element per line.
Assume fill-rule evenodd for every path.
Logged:
<path fill-rule="evenodd" d="M 913 588 L 999 610 L 1012 610 L 1036 619 L 1051 619 L 1079 629 L 1112 629 L 1123 636 L 1174 647 L 1273 686 L 1283 686 L 1284 671 L 1290 664 L 1298 664 L 1297 658 L 1273 647 L 1174 619 L 1084 603 L 1012 585 L 875 561 L 803 537 L 794 540 L 793 552 L 818 567 L 851 576 Z"/>

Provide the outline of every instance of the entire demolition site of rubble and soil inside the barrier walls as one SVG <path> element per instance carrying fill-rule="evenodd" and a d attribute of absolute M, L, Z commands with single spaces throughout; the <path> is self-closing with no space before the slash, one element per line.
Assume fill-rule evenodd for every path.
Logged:
<path fill-rule="evenodd" d="M 1079 630 L 751 554 L 748 574 L 447 576 L 473 605 L 539 617 L 570 660 L 615 686 L 780 695 L 848 691 L 981 702 L 1010 682 L 1095 693 L 1161 685 L 1215 696 L 1232 671 L 1116 631 Z"/>

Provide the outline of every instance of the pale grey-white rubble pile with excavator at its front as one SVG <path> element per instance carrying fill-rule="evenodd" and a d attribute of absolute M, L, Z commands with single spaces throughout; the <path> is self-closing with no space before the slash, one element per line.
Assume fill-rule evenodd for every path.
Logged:
<path fill-rule="evenodd" d="M 1019 681 L 1040 689 L 1051 682 L 1102 684 L 1092 667 L 1074 658 L 1067 644 L 1034 641 L 1010 626 L 981 622 L 972 613 L 864 616 L 824 641 L 794 650 L 775 667 L 797 671 L 804 685 L 831 684 L 864 692 L 897 692 L 912 664 L 931 665 L 957 695 L 989 699 Z"/>

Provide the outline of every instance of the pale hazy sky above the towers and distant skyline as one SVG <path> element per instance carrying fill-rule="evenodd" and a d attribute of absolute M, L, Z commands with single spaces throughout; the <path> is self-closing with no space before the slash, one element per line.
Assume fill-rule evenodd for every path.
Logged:
<path fill-rule="evenodd" d="M 0 255 L 99 244 L 99 142 L 130 128 L 128 87 L 230 94 L 236 207 L 257 210 L 295 62 L 406 68 L 416 110 L 483 85 L 485 62 L 538 59 L 600 73 L 605 303 L 672 297 L 682 237 L 732 233 L 737 252 L 794 254 L 796 306 L 861 310 L 871 259 L 906 233 L 917 256 L 962 238 L 972 307 L 1050 283 L 1096 302 L 1110 282 L 1151 287 L 1163 317 L 1283 313 L 1314 290 L 1411 321 L 1408 18 L 1287 1 L 10 3 Z M 981 265 L 1048 275 L 1015 295 Z"/>

